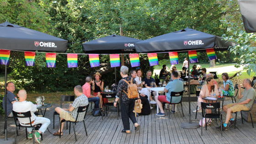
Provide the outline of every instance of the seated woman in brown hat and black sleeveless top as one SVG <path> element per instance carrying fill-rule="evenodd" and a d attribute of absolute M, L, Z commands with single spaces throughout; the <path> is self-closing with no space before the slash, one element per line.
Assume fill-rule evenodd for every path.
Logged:
<path fill-rule="evenodd" d="M 95 81 L 92 81 L 92 90 L 93 90 L 93 96 L 100 98 L 100 105 L 101 105 L 101 111 L 102 111 L 102 96 L 101 91 L 103 91 L 104 82 L 101 79 L 101 74 L 99 72 L 96 72 L 94 75 Z"/>

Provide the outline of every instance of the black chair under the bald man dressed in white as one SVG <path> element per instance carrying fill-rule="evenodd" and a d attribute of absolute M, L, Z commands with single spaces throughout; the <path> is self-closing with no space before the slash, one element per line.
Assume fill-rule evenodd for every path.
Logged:
<path fill-rule="evenodd" d="M 35 144 L 35 139 L 34 139 L 34 136 L 35 136 L 35 127 L 32 126 L 32 123 L 31 123 L 31 112 L 28 111 L 28 112 L 14 112 L 12 111 L 12 114 L 13 114 L 13 118 L 14 118 L 14 121 L 15 121 L 15 125 L 16 125 L 16 129 L 15 129 L 15 144 L 16 144 L 16 136 L 17 136 L 17 128 L 26 128 L 26 138 L 27 138 L 27 128 L 33 128 L 33 144 Z M 17 118 L 29 118 L 29 124 L 30 126 L 22 126 L 20 123 L 17 124 Z M 41 124 L 38 124 L 38 125 L 41 125 Z M 41 138 L 43 140 L 43 135 L 42 133 L 40 133 L 41 135 Z"/>

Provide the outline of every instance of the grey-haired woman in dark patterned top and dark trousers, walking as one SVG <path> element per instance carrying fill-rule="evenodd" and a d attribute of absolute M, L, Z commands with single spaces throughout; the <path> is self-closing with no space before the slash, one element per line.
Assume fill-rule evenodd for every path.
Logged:
<path fill-rule="evenodd" d="M 117 101 L 120 98 L 120 103 L 121 103 L 121 116 L 122 116 L 122 121 L 123 121 L 123 130 L 121 131 L 122 133 L 131 133 L 130 132 L 130 123 L 129 123 L 129 118 L 134 124 L 135 131 L 138 131 L 140 128 L 140 125 L 137 123 L 133 108 L 135 105 L 135 101 L 138 100 L 138 102 L 141 102 L 139 98 L 139 94 L 137 98 L 129 99 L 128 96 L 126 95 L 127 93 L 127 88 L 128 84 L 124 81 L 131 81 L 131 77 L 128 76 L 128 67 L 127 66 L 122 66 L 120 69 L 120 75 L 122 76 L 122 80 L 119 81 L 118 86 L 117 86 L 117 96 L 114 101 L 114 106 L 117 107 Z M 133 84 L 136 84 L 136 81 L 133 79 Z M 123 92 L 125 91 L 125 92 Z"/>

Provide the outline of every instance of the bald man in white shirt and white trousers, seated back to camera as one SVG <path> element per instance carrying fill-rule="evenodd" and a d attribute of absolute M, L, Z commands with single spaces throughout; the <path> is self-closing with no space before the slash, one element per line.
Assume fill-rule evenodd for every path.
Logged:
<path fill-rule="evenodd" d="M 48 125 L 50 124 L 50 120 L 45 117 L 36 117 L 34 112 L 37 111 L 37 105 L 34 105 L 30 101 L 26 101 L 27 99 L 27 92 L 25 90 L 20 90 L 18 93 L 19 101 L 13 103 L 13 111 L 14 112 L 31 112 L 31 123 L 32 126 L 37 125 L 37 124 L 42 124 L 42 126 L 39 128 L 37 132 L 35 132 L 35 140 L 37 143 L 40 143 L 40 133 L 44 133 Z M 20 121 L 20 124 L 22 126 L 30 126 L 30 121 L 29 118 L 18 118 Z M 27 128 L 28 131 L 28 139 L 32 139 L 32 130 L 33 128 Z"/>

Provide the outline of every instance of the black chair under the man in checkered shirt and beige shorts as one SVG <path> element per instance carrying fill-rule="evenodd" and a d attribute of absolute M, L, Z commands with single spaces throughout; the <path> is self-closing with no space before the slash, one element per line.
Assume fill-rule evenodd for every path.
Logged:
<path fill-rule="evenodd" d="M 90 104 L 88 104 L 87 106 L 78 107 L 77 115 L 76 115 L 76 118 L 75 118 L 75 122 L 73 122 L 73 121 L 66 121 L 66 120 L 64 120 L 64 119 L 61 120 L 61 122 L 59 123 L 59 124 L 60 124 L 60 129 L 61 129 L 61 123 L 64 123 L 64 122 L 67 122 L 67 123 L 68 123 L 68 122 L 69 122 L 69 134 L 70 134 L 70 125 L 71 125 L 71 123 L 73 123 L 73 129 L 74 129 L 74 134 L 75 134 L 75 124 L 82 122 L 82 121 L 77 121 L 77 118 L 78 118 L 79 114 L 82 113 L 82 112 L 85 112 L 85 116 L 86 116 L 86 113 L 87 113 L 87 110 L 88 110 L 89 105 L 90 105 Z M 85 116 L 84 116 L 84 119 L 85 119 Z M 83 119 L 83 123 L 84 123 L 84 126 L 85 126 L 85 120 L 84 120 L 84 119 Z M 85 127 L 85 133 L 86 133 L 86 136 L 88 136 L 88 135 L 87 135 L 86 127 Z M 61 137 L 61 134 L 59 134 L 59 138 L 60 138 L 60 137 Z M 75 135 L 75 141 L 77 141 L 76 135 Z"/>

